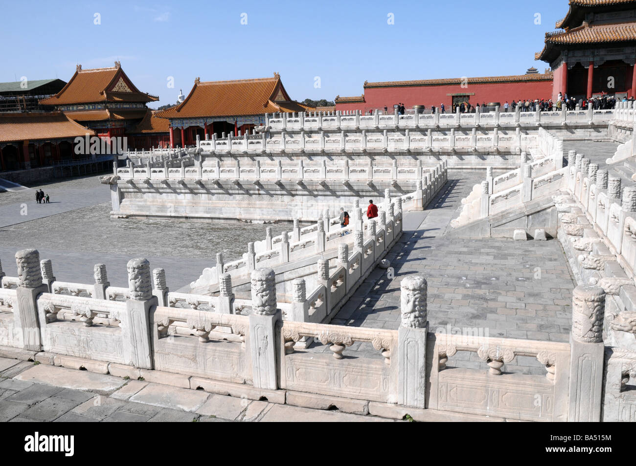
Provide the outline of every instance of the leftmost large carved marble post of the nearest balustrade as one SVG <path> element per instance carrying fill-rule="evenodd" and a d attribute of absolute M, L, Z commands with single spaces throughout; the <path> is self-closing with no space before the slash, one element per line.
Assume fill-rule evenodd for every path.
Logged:
<path fill-rule="evenodd" d="M 19 250 L 15 253 L 15 262 L 18 288 L 17 303 L 13 306 L 14 338 L 25 350 L 39 351 L 42 347 L 37 300 L 39 294 L 48 292 L 48 286 L 42 283 L 39 252 L 37 249 Z"/>

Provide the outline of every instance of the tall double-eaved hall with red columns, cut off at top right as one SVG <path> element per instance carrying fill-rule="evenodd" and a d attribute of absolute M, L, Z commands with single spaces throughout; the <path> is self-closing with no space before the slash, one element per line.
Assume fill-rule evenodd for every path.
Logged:
<path fill-rule="evenodd" d="M 559 92 L 579 98 L 636 93 L 636 0 L 570 0 L 560 31 L 546 33 L 536 60 L 554 72 Z"/>

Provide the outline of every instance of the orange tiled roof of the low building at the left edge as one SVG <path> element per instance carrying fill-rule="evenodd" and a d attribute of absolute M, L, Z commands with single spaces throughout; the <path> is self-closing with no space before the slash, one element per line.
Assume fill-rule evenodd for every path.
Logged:
<path fill-rule="evenodd" d="M 94 135 L 62 112 L 0 113 L 0 142 L 66 139 Z"/>

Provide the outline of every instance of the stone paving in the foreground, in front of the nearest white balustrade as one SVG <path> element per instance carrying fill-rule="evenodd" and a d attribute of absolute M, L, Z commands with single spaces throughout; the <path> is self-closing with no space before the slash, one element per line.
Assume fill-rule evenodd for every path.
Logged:
<path fill-rule="evenodd" d="M 392 422 L 0 358 L 0 422 Z"/>

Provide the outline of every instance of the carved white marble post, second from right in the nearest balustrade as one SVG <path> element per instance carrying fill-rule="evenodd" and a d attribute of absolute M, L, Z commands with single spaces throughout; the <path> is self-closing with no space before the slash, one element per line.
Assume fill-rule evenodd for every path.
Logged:
<path fill-rule="evenodd" d="M 397 403 L 425 408 L 427 282 L 410 275 L 400 282 L 401 325 L 397 331 Z"/>

